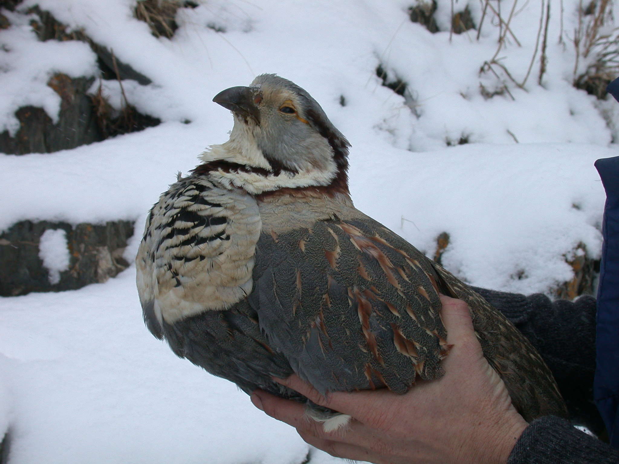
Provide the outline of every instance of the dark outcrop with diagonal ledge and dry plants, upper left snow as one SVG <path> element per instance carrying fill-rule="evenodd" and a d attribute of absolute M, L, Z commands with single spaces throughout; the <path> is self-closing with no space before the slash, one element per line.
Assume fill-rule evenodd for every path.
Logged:
<path fill-rule="evenodd" d="M 126 79 L 136 80 L 141 85 L 151 84 L 148 77 L 120 61 L 113 51 L 98 45 L 81 30 L 69 30 L 50 12 L 42 11 L 38 6 L 27 12 L 38 18 L 30 21 L 30 27 L 39 40 L 77 40 L 87 43 L 97 54 L 100 79 L 118 80 L 121 85 Z M 0 27 L 3 25 L 0 18 Z M 61 100 L 58 121 L 54 123 L 43 108 L 19 108 L 15 116 L 20 127 L 14 135 L 8 131 L 0 133 L 0 153 L 52 153 L 160 124 L 160 119 L 139 113 L 128 101 L 124 101 L 121 110 L 113 110 L 102 92 L 92 95 L 88 93 L 94 82 L 95 77 L 71 78 L 66 74 L 54 74 L 47 85 Z"/>

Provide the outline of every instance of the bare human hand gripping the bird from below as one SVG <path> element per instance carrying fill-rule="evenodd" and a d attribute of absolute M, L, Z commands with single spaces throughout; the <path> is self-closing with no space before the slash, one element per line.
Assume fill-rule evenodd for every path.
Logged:
<path fill-rule="evenodd" d="M 344 432 L 324 432 L 321 423 L 305 416 L 305 406 L 262 390 L 251 401 L 335 457 L 377 464 L 506 463 L 527 423 L 483 357 L 467 304 L 447 296 L 441 302 L 447 341 L 453 345 L 441 379 L 418 380 L 404 395 L 383 389 L 327 397 L 297 376 L 276 379 L 314 403 L 352 416 Z"/>

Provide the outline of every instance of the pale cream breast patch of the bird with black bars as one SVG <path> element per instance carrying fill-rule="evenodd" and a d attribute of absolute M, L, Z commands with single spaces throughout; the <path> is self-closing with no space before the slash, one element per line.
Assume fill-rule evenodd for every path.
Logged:
<path fill-rule="evenodd" d="M 249 195 L 196 176 L 181 179 L 149 213 L 137 254 L 137 287 L 151 332 L 251 291 L 261 220 Z"/>

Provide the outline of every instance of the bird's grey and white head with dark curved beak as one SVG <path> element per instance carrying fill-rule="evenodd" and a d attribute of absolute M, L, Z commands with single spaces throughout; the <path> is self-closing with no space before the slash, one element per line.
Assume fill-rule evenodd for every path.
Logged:
<path fill-rule="evenodd" d="M 303 88 L 262 74 L 249 87 L 228 88 L 213 101 L 232 111 L 234 127 L 230 140 L 212 147 L 203 159 L 226 160 L 264 174 L 256 183 L 251 176 L 235 179 L 237 186 L 242 183 L 252 193 L 308 186 L 347 191 L 350 144 Z"/>

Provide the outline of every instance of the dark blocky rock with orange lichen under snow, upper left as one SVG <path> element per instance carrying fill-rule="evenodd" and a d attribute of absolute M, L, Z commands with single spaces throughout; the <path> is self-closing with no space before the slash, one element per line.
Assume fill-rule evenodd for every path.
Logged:
<path fill-rule="evenodd" d="M 93 113 L 93 105 L 86 94 L 93 77 L 71 79 L 66 74 L 55 74 L 48 85 L 61 98 L 58 122 L 54 124 L 43 108 L 24 106 L 15 112 L 20 128 L 11 137 L 8 131 L 0 134 L 0 152 L 51 153 L 80 145 L 92 144 L 105 137 L 100 133 Z"/>

